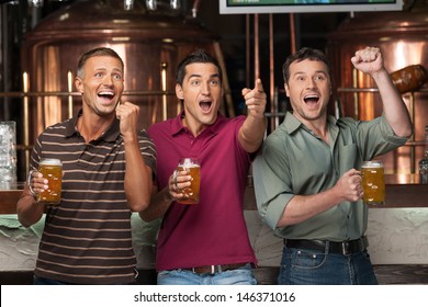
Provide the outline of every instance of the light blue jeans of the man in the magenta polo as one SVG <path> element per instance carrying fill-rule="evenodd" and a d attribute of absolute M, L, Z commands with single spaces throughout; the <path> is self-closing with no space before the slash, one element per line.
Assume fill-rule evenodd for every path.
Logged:
<path fill-rule="evenodd" d="M 256 285 L 251 264 L 214 274 L 196 274 L 188 270 L 161 271 L 158 285 Z"/>

